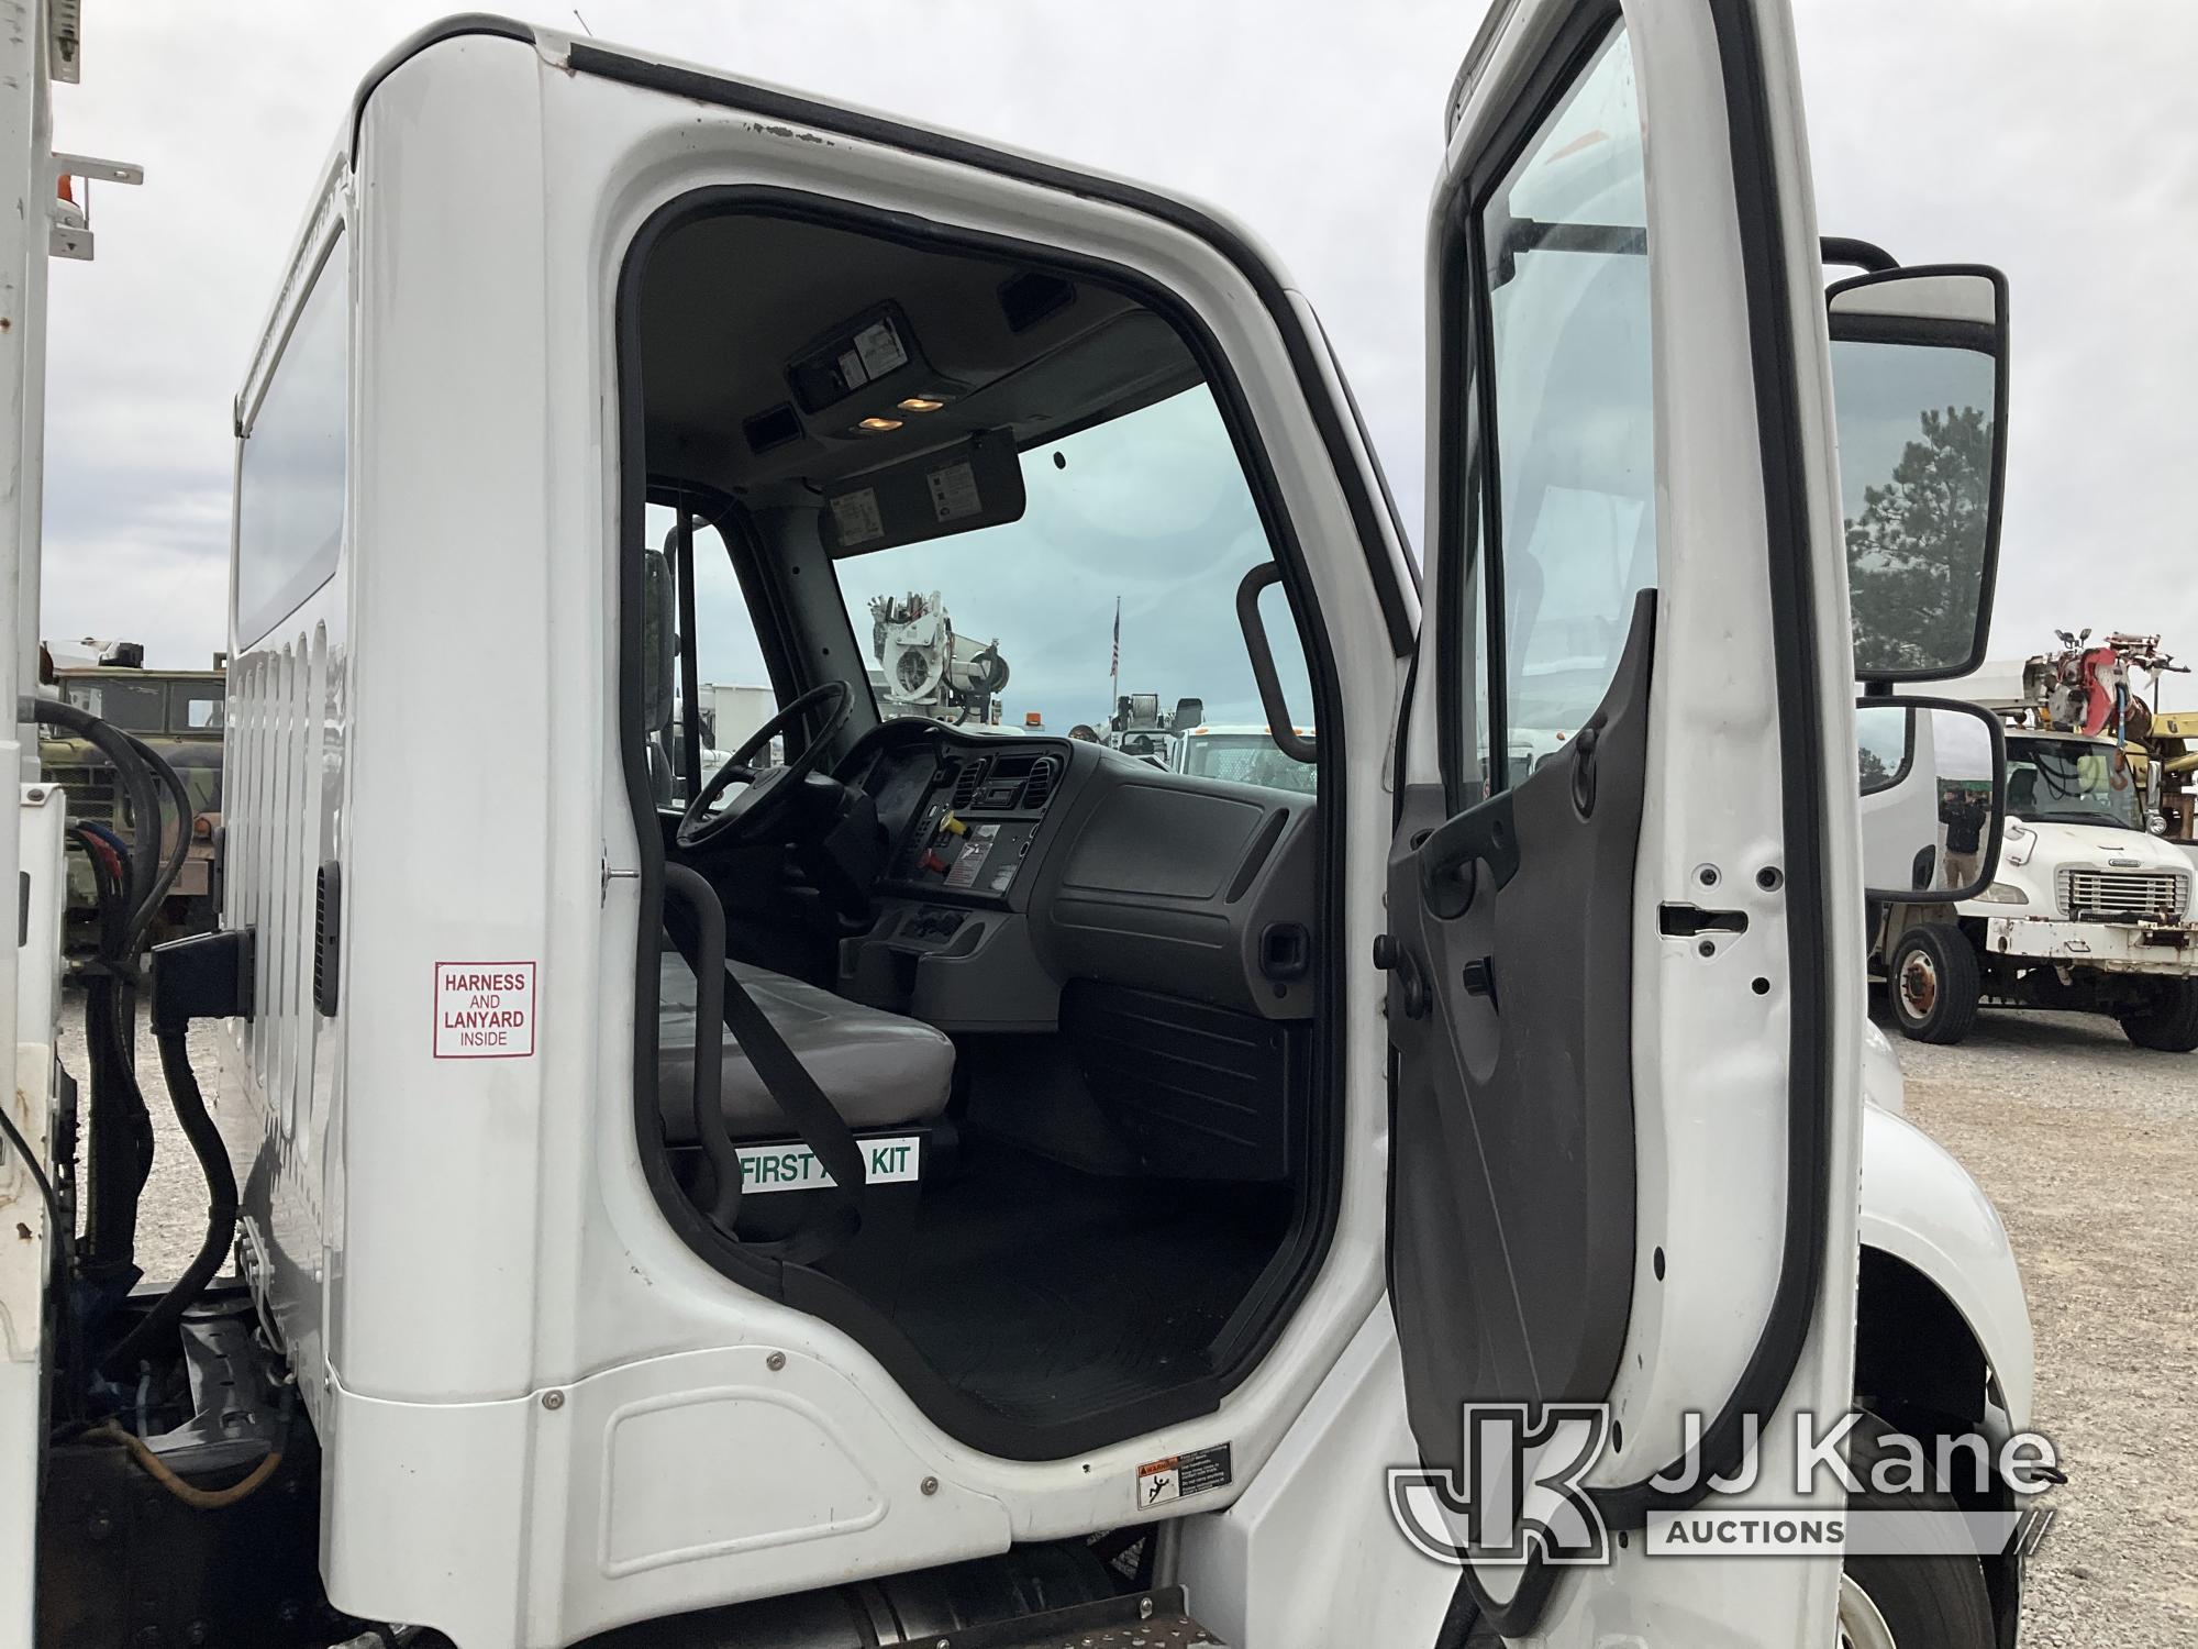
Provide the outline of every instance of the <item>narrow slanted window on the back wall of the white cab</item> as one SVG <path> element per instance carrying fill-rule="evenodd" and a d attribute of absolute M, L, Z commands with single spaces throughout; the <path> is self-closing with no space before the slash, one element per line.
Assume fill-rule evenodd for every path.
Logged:
<path fill-rule="evenodd" d="M 237 464 L 237 646 L 328 583 L 343 545 L 349 266 L 338 240 L 314 275 Z"/>

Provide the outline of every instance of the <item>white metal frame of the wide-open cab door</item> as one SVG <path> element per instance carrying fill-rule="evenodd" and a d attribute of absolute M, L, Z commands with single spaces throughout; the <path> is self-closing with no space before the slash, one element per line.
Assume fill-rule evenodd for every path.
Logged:
<path fill-rule="evenodd" d="M 1451 134 L 1448 171 L 1433 204 L 1431 244 L 1453 207 L 1464 167 L 1495 141 L 1519 88 L 1576 11 L 1569 0 L 1521 0 L 1497 26 L 1464 88 Z M 1802 761 L 1818 763 L 1833 798 L 1853 796 L 1855 743 L 1849 704 L 1851 638 L 1846 563 L 1838 552 L 1840 506 L 1833 464 L 1831 369 L 1818 288 L 1818 229 L 1800 110 L 1791 20 L 1778 0 L 1747 7 L 1765 62 L 1769 156 L 1783 207 L 1791 354 L 1802 413 L 1802 473 L 1816 552 L 1807 583 L 1816 613 L 1816 697 L 1822 721 Z M 1780 770 L 1776 695 L 1763 690 L 1769 660 L 1754 651 L 1767 633 L 1769 567 L 1765 493 L 1756 471 L 1756 376 L 1747 290 L 1732 187 L 1728 88 L 1712 9 L 1629 0 L 1646 158 L 1648 259 L 1655 361 L 1659 602 L 1657 690 L 1648 732 L 1648 803 L 1642 818 L 1633 930 L 1633 1106 L 1638 1150 L 1638 1240 L 1633 1319 L 1611 1392 L 1613 1418 L 1646 1451 L 1611 1451 L 1591 1482 L 1629 1482 L 1662 1467 L 1681 1436 L 1681 1414 L 1717 1409 L 1736 1387 L 1778 1280 L 1785 1209 L 1787 912 L 1756 886 L 1758 866 L 1780 864 Z M 1429 259 L 1431 290 L 1442 279 Z M 1437 299 L 1440 301 L 1440 299 Z M 1440 336 L 1431 312 L 1431 336 Z M 1440 374 L 1429 369 L 1429 475 L 1440 473 Z M 1444 499 L 1431 488 L 1429 536 Z M 1444 611 L 1429 569 L 1427 611 Z M 1435 627 L 1422 633 L 1422 682 L 1440 679 Z M 1734 638 L 1750 638 L 1745 646 Z M 1470 638 L 1462 649 L 1470 657 Z M 1741 657 L 1734 653 L 1741 651 Z M 1416 717 L 1409 774 L 1437 781 L 1435 745 Z M 1824 829 L 1827 912 L 1862 908 L 1862 842 L 1851 807 L 1829 807 Z M 1747 912 L 1747 930 L 1719 934 L 1710 954 L 1692 939 L 1659 932 L 1662 901 L 1695 899 L 1695 868 L 1721 868 L 1717 901 Z M 1791 1493 L 1794 1412 L 1838 1414 L 1849 1403 L 1855 1328 L 1864 1020 L 1862 934 L 1827 923 L 1831 972 L 1827 1033 L 1835 1128 L 1835 1196 L 1827 1262 L 1809 1348 L 1776 1416 L 1763 1425 L 1763 1471 L 1730 1504 L 1798 1504 Z M 1752 994 L 1747 981 L 1772 981 Z M 1739 1240 L 1756 1233 L 1756 1240 Z M 1651 1275 L 1662 1249 L 1675 1277 L 1714 1277 L 1714 1288 L 1664 1288 Z M 1822 1491 L 1820 1491 L 1822 1493 Z M 1510 1581 L 1488 1576 L 1497 1596 Z M 1558 1581 L 1539 1625 L 1550 1645 L 1589 1645 L 1605 1634 L 1646 1642 L 1787 1645 L 1833 1640 L 1838 1570 L 1827 1563 L 1756 1559 L 1699 1563 L 1618 1550 L 1600 1570 Z"/>

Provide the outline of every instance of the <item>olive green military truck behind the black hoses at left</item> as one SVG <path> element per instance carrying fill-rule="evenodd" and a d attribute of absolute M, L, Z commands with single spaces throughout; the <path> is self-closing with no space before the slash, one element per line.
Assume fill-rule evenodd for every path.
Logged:
<path fill-rule="evenodd" d="M 51 686 L 79 710 L 125 728 L 158 750 L 182 778 L 191 796 L 191 846 L 169 888 L 163 923 L 169 932 L 200 932 L 213 926 L 213 833 L 222 822 L 222 728 L 229 706 L 229 673 L 147 671 L 141 664 L 110 662 L 141 655 L 138 649 L 110 649 L 99 664 L 55 666 Z M 46 783 L 68 792 L 73 820 L 108 824 L 136 846 L 138 824 L 130 818 L 127 798 L 114 783 L 106 756 L 84 739 L 40 739 L 40 767 Z M 165 846 L 165 842 L 163 842 Z M 90 941 L 97 915 L 92 866 L 68 855 L 68 934 L 70 948 Z"/>

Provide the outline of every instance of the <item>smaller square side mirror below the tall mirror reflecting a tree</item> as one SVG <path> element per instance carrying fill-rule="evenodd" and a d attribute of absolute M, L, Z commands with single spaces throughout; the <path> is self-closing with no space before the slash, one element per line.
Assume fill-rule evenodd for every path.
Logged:
<path fill-rule="evenodd" d="M 1989 888 L 2007 829 L 2000 719 L 1954 699 L 1862 699 L 1855 752 L 1868 897 L 1954 904 Z"/>

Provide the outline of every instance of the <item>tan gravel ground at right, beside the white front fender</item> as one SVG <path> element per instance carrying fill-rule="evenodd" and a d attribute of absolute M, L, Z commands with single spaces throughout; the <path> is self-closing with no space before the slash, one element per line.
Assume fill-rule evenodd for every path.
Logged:
<path fill-rule="evenodd" d="M 2068 1484 L 2024 1645 L 2198 1647 L 2198 1053 L 2088 1014 L 1985 1009 L 1954 1049 L 1879 1022 L 1910 1121 L 2000 1207 L 2031 1299 L 2035 1425 Z"/>

